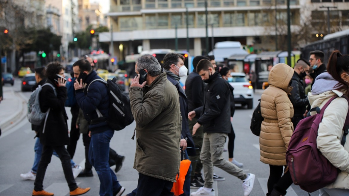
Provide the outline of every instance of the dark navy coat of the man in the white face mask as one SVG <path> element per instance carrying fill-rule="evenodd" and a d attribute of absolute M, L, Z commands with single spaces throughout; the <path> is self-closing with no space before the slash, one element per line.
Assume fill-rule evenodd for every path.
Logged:
<path fill-rule="evenodd" d="M 182 116 L 182 131 L 180 138 L 187 140 L 188 147 L 195 148 L 192 134 L 190 133 L 188 125 L 187 96 L 185 95 L 182 86 L 176 79 L 167 74 L 167 80 L 169 80 L 174 86 L 176 86 L 179 94 L 180 115 Z M 195 156 L 195 149 L 187 149 L 187 152 L 189 156 Z"/>

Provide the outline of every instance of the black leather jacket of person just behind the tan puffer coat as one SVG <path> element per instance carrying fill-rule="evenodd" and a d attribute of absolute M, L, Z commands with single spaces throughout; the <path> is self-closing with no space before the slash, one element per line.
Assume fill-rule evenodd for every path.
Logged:
<path fill-rule="evenodd" d="M 289 98 L 295 111 L 294 116 L 303 116 L 306 106 L 309 105 L 308 98 L 304 93 L 305 84 L 303 83 L 303 78 L 295 71 L 291 81 L 292 90 Z"/>

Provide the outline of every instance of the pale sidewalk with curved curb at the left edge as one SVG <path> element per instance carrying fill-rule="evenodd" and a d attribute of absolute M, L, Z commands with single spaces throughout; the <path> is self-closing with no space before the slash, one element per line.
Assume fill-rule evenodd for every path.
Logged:
<path fill-rule="evenodd" d="M 0 103 L 0 128 L 2 133 L 11 125 L 20 122 L 27 112 L 27 102 L 19 92 L 12 88 L 3 86 L 3 98 Z"/>

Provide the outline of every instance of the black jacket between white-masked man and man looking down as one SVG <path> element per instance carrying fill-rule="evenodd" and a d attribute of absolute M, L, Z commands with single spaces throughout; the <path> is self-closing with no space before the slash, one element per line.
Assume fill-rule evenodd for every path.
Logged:
<path fill-rule="evenodd" d="M 185 81 L 185 94 L 188 98 L 188 111 L 203 106 L 204 84 L 201 76 L 193 70 Z"/>

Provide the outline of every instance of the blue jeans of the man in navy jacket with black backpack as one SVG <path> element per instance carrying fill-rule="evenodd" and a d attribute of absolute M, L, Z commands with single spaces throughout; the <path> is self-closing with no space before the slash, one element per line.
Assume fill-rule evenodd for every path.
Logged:
<path fill-rule="evenodd" d="M 114 135 L 114 130 L 107 130 L 102 133 L 91 135 L 89 159 L 98 174 L 101 187 L 99 195 L 112 196 L 113 192 L 120 188 L 115 173 L 109 167 L 109 143 Z"/>

